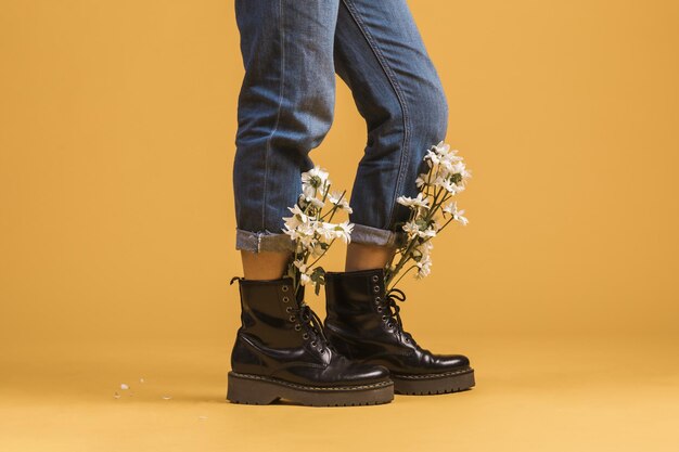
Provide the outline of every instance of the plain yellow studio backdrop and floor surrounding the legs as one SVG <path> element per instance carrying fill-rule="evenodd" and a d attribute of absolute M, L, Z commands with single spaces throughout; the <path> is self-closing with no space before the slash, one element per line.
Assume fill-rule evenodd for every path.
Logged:
<path fill-rule="evenodd" d="M 401 312 L 477 387 L 227 403 L 233 2 L 2 0 L 0 449 L 676 450 L 679 3 L 409 3 L 474 177 Z M 350 189 L 338 78 L 335 114 L 311 157 Z"/>

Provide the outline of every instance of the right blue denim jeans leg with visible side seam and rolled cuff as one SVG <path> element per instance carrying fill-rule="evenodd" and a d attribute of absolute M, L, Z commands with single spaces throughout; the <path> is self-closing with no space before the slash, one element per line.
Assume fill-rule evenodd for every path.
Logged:
<path fill-rule="evenodd" d="M 335 30 L 335 70 L 351 89 L 368 125 L 349 204 L 351 242 L 402 244 L 427 148 L 444 140 L 448 104 L 406 0 L 342 0 Z"/>

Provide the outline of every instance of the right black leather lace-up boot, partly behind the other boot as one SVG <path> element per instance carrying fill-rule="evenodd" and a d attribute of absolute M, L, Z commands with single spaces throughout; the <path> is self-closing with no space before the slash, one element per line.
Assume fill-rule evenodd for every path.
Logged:
<path fill-rule="evenodd" d="M 456 392 L 474 386 L 462 354 L 434 354 L 402 328 L 396 289 L 385 295 L 384 269 L 325 272 L 325 335 L 351 360 L 389 370 L 394 391 L 405 395 Z"/>

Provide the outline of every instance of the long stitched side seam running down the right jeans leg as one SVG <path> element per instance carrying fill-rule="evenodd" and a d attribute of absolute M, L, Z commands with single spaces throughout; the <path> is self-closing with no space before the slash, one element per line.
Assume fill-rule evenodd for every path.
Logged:
<path fill-rule="evenodd" d="M 392 68 L 389 67 L 389 65 L 386 62 L 386 59 L 384 57 L 384 55 L 382 54 L 382 52 L 380 51 L 380 49 L 377 48 L 376 42 L 374 41 L 374 38 L 372 37 L 372 35 L 370 35 L 370 31 L 368 30 L 368 27 L 366 27 L 366 25 L 363 24 L 363 22 L 361 21 L 358 11 L 356 10 L 356 7 L 354 5 L 354 3 L 351 3 L 350 0 L 342 0 L 344 2 L 344 4 L 347 7 L 347 10 L 349 11 L 351 17 L 354 17 L 354 21 L 356 22 L 356 25 L 358 26 L 358 28 L 361 30 L 361 33 L 363 34 L 363 36 L 366 37 L 366 40 L 368 41 L 368 44 L 370 46 L 372 52 L 374 53 L 375 57 L 377 59 L 377 62 L 380 62 L 380 65 L 382 66 L 382 69 L 384 70 L 384 74 L 386 75 L 387 79 L 389 80 L 389 85 L 392 85 L 392 88 L 394 89 L 394 92 L 396 93 L 396 98 L 398 99 L 398 102 L 400 104 L 401 111 L 403 112 L 403 142 L 402 142 L 402 148 L 401 148 L 401 158 L 400 158 L 400 163 L 399 163 L 399 167 L 398 167 L 398 176 L 396 178 L 396 188 L 395 188 L 395 192 L 394 195 L 392 197 L 392 210 L 389 214 L 389 219 L 387 221 L 387 223 L 383 227 L 384 229 L 390 230 L 390 225 L 394 221 L 394 217 L 396 215 L 396 197 L 398 195 L 398 193 L 400 193 L 402 191 L 402 184 L 406 178 L 406 171 L 405 171 L 405 164 L 403 162 L 407 162 L 407 157 L 408 157 L 408 146 L 410 144 L 410 116 L 408 113 L 408 106 L 403 96 L 403 93 L 400 89 L 400 86 L 398 85 L 398 82 L 396 81 L 396 77 L 393 75 L 392 73 Z"/>

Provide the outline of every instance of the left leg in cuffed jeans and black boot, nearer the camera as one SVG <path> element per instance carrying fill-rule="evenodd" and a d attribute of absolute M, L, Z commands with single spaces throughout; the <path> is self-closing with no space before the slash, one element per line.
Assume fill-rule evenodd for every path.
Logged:
<path fill-rule="evenodd" d="M 227 392 L 233 402 L 334 406 L 394 399 L 388 371 L 337 354 L 304 302 L 305 286 L 295 292 L 292 277 L 280 277 L 293 244 L 283 217 L 302 192 L 300 173 L 313 166 L 309 151 L 332 122 L 338 1 L 235 1 L 245 77 L 233 183 L 245 277 Z"/>

